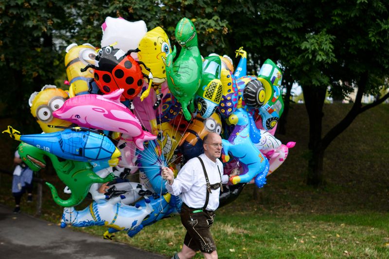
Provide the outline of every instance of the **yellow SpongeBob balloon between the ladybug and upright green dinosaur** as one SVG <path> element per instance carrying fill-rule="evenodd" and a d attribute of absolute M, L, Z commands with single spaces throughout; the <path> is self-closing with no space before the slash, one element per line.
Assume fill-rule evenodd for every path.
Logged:
<path fill-rule="evenodd" d="M 161 27 L 148 31 L 139 42 L 138 58 L 153 74 L 153 87 L 157 94 L 157 103 L 160 103 L 159 86 L 166 81 L 166 55 L 172 52 L 169 37 Z M 142 93 L 143 101 L 149 95 L 149 88 Z M 158 107 L 155 106 L 155 107 Z"/>

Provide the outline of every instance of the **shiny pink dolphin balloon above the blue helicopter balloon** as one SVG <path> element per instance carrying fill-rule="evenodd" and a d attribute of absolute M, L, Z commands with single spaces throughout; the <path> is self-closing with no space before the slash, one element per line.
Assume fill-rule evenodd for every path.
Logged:
<path fill-rule="evenodd" d="M 132 137 L 138 149 L 143 142 L 157 137 L 144 131 L 138 118 L 122 103 L 124 89 L 110 94 L 83 94 L 65 101 L 53 112 L 55 118 L 71 121 L 79 126 L 123 133 L 123 138 Z"/>

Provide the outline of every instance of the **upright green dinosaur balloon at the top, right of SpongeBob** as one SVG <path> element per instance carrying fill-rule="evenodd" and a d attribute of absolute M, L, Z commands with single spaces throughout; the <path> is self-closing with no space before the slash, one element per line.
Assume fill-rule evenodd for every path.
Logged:
<path fill-rule="evenodd" d="M 182 18 L 176 27 L 176 39 L 182 49 L 175 62 L 176 47 L 166 57 L 166 78 L 170 92 L 182 106 L 182 112 L 187 121 L 192 114 L 188 110 L 195 110 L 193 103 L 195 93 L 200 86 L 203 73 L 200 51 L 197 44 L 197 33 L 192 21 Z"/>

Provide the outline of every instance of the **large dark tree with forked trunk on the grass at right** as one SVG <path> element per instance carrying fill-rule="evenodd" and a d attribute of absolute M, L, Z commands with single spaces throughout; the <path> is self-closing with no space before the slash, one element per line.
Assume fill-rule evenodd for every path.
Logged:
<path fill-rule="evenodd" d="M 261 1 L 256 4 L 259 54 L 275 53 L 303 89 L 309 116 L 307 183 L 323 183 L 324 151 L 367 109 L 389 94 L 363 105 L 364 94 L 387 86 L 389 67 L 389 3 L 381 0 Z M 254 22 L 254 21 L 252 21 Z M 233 25 L 232 25 L 233 26 Z M 345 96 L 357 87 L 354 105 L 343 120 L 322 136 L 327 87 Z"/>

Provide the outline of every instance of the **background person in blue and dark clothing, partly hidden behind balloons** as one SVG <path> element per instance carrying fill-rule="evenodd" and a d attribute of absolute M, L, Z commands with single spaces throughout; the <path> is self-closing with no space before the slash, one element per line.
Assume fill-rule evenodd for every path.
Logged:
<path fill-rule="evenodd" d="M 18 150 L 14 157 L 15 170 L 12 179 L 12 194 L 15 198 L 14 213 L 20 213 L 20 200 L 23 193 L 27 191 L 27 202 L 33 201 L 33 171 L 23 163 Z"/>

